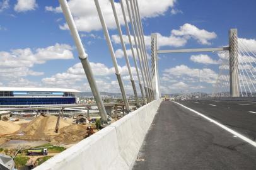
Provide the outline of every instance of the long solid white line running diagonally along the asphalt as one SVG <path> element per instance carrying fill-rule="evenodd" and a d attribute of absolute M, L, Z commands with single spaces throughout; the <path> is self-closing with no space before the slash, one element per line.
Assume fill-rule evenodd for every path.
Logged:
<path fill-rule="evenodd" d="M 180 103 L 177 103 L 175 101 L 172 101 L 173 103 L 176 103 L 177 105 L 182 106 L 183 108 L 186 108 L 187 110 L 190 110 L 192 112 L 194 112 L 195 114 L 202 116 L 203 118 L 205 118 L 206 120 L 211 121 L 212 123 L 218 125 L 219 127 L 223 128 L 224 130 L 232 133 L 233 135 L 235 135 L 236 137 L 239 137 L 241 140 L 245 140 L 245 142 L 248 142 L 249 144 L 253 145 L 254 147 L 256 147 L 256 142 L 254 142 L 253 140 L 248 139 L 247 137 L 245 137 L 244 135 L 241 135 L 240 133 L 236 132 L 235 130 L 232 130 L 231 128 L 226 127 L 225 125 L 217 122 L 216 120 L 213 120 L 212 118 L 209 118 L 206 115 L 203 115 L 202 113 L 199 113 L 198 111 L 192 110 L 191 108 L 188 108 L 187 106 L 184 106 Z"/>

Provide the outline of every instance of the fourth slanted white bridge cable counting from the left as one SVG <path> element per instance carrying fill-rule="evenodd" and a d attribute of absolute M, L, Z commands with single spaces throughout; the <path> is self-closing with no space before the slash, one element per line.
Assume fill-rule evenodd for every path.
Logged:
<path fill-rule="evenodd" d="M 124 16 L 125 28 L 126 28 L 126 31 L 127 31 L 127 35 L 128 35 L 128 38 L 129 38 L 129 43 L 130 43 L 131 50 L 132 50 L 132 58 L 134 60 L 134 65 L 135 65 L 136 72 L 137 72 L 137 77 L 138 77 L 138 81 L 139 81 L 139 88 L 141 89 L 141 96 L 143 98 L 143 103 L 146 103 L 144 93 L 143 93 L 143 86 L 141 85 L 141 77 L 139 76 L 139 69 L 138 69 L 138 66 L 137 66 L 137 60 L 136 60 L 136 56 L 135 56 L 135 53 L 134 53 L 134 48 L 133 48 L 133 45 L 132 45 L 131 33 L 130 33 L 129 25 L 127 23 L 127 18 L 126 18 L 125 11 L 124 11 L 124 4 L 123 4 L 122 0 L 120 0 L 120 4 L 121 4 L 121 8 L 122 8 L 122 13 L 123 13 L 123 16 Z"/>

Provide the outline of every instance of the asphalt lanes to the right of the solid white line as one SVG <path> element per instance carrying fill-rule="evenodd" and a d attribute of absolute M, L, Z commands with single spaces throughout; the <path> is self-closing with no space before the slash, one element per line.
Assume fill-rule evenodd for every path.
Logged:
<path fill-rule="evenodd" d="M 178 103 L 199 111 L 252 140 L 256 139 L 256 103 L 244 101 L 178 101 Z"/>

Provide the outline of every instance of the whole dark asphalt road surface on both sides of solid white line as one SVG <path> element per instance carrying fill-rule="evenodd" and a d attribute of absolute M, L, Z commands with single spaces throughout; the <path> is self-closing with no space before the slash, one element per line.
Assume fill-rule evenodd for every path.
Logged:
<path fill-rule="evenodd" d="M 255 141 L 256 103 L 179 103 Z M 172 101 L 163 101 L 133 169 L 256 169 L 256 147 Z"/>

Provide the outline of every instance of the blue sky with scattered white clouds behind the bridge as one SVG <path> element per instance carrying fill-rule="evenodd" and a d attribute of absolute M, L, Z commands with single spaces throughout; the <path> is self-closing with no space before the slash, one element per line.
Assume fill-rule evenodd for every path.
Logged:
<path fill-rule="evenodd" d="M 137 80 L 120 4 L 115 2 Z M 131 94 L 111 5 L 108 0 L 100 0 L 100 5 Z M 70 0 L 69 6 L 100 91 L 119 92 L 94 1 Z M 160 49 L 206 48 L 228 45 L 228 30 L 238 28 L 241 40 L 256 47 L 255 6 L 254 0 L 139 0 L 148 54 L 151 33 L 158 33 Z M 90 91 L 58 1 L 0 0 L 0 40 L 0 86 Z M 221 62 L 221 55 L 212 52 L 159 55 L 162 93 L 211 93 Z"/>

